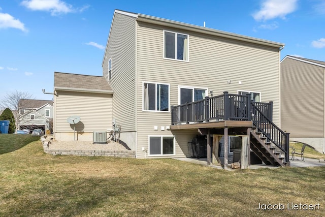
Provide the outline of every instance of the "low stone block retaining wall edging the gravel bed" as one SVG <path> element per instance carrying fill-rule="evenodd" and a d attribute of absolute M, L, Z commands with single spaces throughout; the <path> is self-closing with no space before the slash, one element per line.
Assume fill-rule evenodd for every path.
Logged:
<path fill-rule="evenodd" d="M 136 158 L 136 151 L 132 150 L 55 150 L 49 148 L 49 142 L 41 137 L 45 153 L 55 155 L 73 155 L 73 156 L 105 156 L 119 158 Z"/>

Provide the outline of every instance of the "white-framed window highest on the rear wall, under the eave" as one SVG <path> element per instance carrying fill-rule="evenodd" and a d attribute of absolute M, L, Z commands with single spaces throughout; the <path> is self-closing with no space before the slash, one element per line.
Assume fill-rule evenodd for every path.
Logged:
<path fill-rule="evenodd" d="M 188 61 L 188 35 L 164 31 L 164 57 Z"/>

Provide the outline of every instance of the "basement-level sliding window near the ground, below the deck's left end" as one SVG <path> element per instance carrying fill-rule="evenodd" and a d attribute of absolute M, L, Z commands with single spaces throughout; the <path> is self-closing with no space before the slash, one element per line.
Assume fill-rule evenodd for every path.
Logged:
<path fill-rule="evenodd" d="M 173 136 L 148 136 L 149 156 L 174 155 L 175 142 Z"/>

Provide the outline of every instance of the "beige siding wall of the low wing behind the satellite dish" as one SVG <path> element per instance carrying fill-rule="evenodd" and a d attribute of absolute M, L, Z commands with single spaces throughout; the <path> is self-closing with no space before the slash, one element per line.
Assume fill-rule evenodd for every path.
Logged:
<path fill-rule="evenodd" d="M 78 131 L 112 129 L 112 95 L 86 92 L 57 91 L 55 98 L 55 133 L 73 132 L 67 118 L 80 116 Z M 83 129 L 81 129 L 83 128 Z"/>

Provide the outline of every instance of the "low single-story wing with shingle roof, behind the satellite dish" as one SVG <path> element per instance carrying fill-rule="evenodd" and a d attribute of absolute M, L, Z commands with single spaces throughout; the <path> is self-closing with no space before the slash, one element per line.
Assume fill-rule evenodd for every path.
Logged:
<path fill-rule="evenodd" d="M 113 91 L 103 76 L 54 73 L 54 134 L 57 140 L 92 141 L 94 131 L 112 129 Z M 79 116 L 74 126 L 71 116 Z M 110 129 L 110 130 L 109 130 Z"/>

